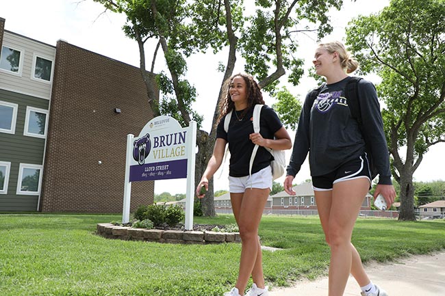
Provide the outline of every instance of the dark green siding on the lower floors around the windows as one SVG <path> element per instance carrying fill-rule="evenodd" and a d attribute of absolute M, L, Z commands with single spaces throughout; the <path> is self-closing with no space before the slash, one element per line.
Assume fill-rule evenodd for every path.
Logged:
<path fill-rule="evenodd" d="M 11 163 L 8 193 L 0 194 L 0 211 L 37 211 L 38 196 L 16 195 L 18 170 L 21 163 L 43 163 L 45 139 L 24 136 L 23 131 L 27 106 L 47 110 L 49 100 L 7 90 L 0 90 L 0 100 L 18 105 L 14 135 L 0 133 L 0 161 Z"/>

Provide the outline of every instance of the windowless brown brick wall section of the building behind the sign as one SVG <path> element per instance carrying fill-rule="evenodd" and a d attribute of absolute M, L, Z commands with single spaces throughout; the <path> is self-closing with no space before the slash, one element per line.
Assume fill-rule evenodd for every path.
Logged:
<path fill-rule="evenodd" d="M 153 118 L 140 70 L 60 40 L 54 72 L 40 210 L 121 213 L 127 134 Z M 132 183 L 131 211 L 153 193 Z"/>

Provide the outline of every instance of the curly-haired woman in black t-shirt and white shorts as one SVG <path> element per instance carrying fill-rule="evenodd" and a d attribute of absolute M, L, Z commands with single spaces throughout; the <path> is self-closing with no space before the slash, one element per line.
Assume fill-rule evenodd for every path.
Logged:
<path fill-rule="evenodd" d="M 262 269 L 262 250 L 259 244 L 258 227 L 264 206 L 272 189 L 272 156 L 263 147 L 277 150 L 290 149 L 292 142 L 273 109 L 264 105 L 260 116 L 260 132 L 253 132 L 253 108 L 264 104 L 262 92 L 250 75 L 237 74 L 226 82 L 225 97 L 220 105 L 220 118 L 216 129 L 214 152 L 196 187 L 196 196 L 203 198 L 201 187 L 208 189 L 209 179 L 220 167 L 229 144 L 229 191 L 236 223 L 241 237 L 241 258 L 238 280 L 226 296 L 242 296 L 252 276 L 253 286 L 249 296 L 267 296 Z M 229 130 L 224 130 L 224 118 L 232 111 Z M 255 144 L 257 150 L 249 176 L 249 161 Z"/>

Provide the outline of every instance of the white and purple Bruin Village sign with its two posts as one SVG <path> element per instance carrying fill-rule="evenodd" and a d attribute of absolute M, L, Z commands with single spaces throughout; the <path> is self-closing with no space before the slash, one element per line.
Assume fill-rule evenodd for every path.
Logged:
<path fill-rule="evenodd" d="M 127 135 L 123 223 L 129 221 L 131 182 L 187 178 L 186 229 L 191 229 L 195 154 L 193 121 L 182 128 L 175 118 L 157 116 L 145 124 L 138 137 Z"/>

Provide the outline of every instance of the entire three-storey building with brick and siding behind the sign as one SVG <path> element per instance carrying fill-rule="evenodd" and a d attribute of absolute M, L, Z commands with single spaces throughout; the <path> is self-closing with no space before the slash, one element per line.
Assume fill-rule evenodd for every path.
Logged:
<path fill-rule="evenodd" d="M 139 68 L 0 18 L 0 212 L 122 213 L 127 134 L 153 118 Z M 153 203 L 131 188 L 131 211 Z"/>

